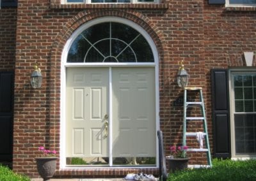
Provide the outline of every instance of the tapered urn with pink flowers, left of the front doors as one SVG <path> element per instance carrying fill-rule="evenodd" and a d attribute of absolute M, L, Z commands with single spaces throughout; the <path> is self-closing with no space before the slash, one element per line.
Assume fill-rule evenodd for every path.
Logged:
<path fill-rule="evenodd" d="M 47 150 L 44 147 L 38 149 L 42 152 L 41 157 L 35 158 L 38 173 L 44 180 L 49 180 L 56 170 L 56 150 Z"/>

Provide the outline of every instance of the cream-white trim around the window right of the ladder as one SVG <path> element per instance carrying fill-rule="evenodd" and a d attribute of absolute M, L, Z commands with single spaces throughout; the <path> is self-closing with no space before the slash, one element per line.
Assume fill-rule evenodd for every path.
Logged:
<path fill-rule="evenodd" d="M 228 70 L 228 84 L 229 84 L 229 102 L 230 102 L 230 141 L 231 141 L 231 158 L 233 160 L 246 160 L 256 158 L 255 155 L 236 155 L 236 136 L 235 136 L 235 124 L 234 124 L 234 112 L 235 112 L 235 105 L 234 105 L 234 91 L 233 91 L 233 76 L 234 74 L 241 73 L 242 75 L 246 73 L 256 73 L 255 68 L 239 68 L 239 69 L 229 69 Z"/>

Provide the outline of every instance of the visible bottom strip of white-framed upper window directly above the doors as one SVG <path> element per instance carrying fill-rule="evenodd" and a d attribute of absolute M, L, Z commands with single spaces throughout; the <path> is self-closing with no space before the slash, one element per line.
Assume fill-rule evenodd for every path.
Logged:
<path fill-rule="evenodd" d="M 157 3 L 157 0 L 65 0 L 66 3 Z"/>

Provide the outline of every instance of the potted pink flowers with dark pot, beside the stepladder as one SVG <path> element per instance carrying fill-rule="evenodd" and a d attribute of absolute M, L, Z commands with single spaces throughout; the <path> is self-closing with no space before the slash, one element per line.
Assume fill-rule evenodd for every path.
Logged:
<path fill-rule="evenodd" d="M 166 160 L 168 162 L 169 171 L 176 171 L 176 170 L 183 170 L 188 168 L 188 161 L 189 158 L 187 156 L 187 149 L 186 145 L 176 147 L 175 145 L 170 147 L 171 156 L 167 156 Z"/>

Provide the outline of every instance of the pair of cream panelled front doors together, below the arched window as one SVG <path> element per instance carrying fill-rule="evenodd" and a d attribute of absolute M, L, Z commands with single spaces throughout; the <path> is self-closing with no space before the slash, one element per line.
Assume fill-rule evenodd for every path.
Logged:
<path fill-rule="evenodd" d="M 67 68 L 66 157 L 156 157 L 153 67 Z"/>

